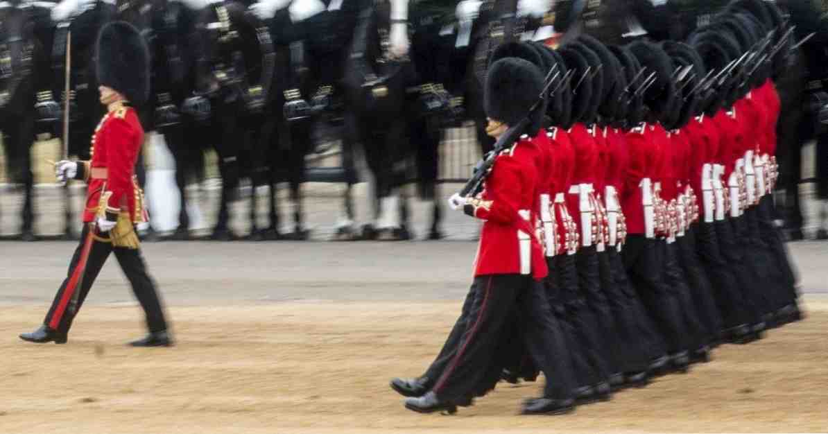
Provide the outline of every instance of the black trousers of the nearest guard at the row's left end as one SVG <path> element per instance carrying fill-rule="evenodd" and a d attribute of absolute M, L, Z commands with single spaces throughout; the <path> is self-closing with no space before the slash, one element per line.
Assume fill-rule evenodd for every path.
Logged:
<path fill-rule="evenodd" d="M 450 335 L 444 345 L 445 354 L 454 354 L 432 388 L 441 401 L 474 395 L 484 383 L 498 346 L 509 337 L 503 336 L 503 330 L 515 311 L 520 317 L 523 343 L 546 375 L 544 396 L 572 397 L 574 384 L 565 341 L 540 282 L 516 274 L 475 277 L 465 305 L 468 315 L 461 315 L 464 324 L 460 325 L 459 340 L 454 336 L 457 344 L 449 345 L 453 339 Z"/>

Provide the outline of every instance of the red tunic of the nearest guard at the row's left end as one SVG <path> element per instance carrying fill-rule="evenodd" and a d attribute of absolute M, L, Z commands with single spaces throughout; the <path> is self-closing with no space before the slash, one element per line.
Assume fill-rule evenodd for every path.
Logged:
<path fill-rule="evenodd" d="M 522 139 L 496 158 L 484 190 L 473 201 L 469 214 L 485 220 L 480 234 L 474 276 L 489 274 L 519 274 L 520 244 L 518 229 L 532 240 L 532 276 L 542 279 L 548 274 L 546 258 L 537 234 L 537 147 L 529 139 Z M 532 215 L 522 219 L 518 211 Z"/>

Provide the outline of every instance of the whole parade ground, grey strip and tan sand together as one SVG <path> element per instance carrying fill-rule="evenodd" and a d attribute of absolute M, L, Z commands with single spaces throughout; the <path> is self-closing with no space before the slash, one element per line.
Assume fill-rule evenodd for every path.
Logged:
<path fill-rule="evenodd" d="M 805 321 L 565 417 L 517 415 L 542 378 L 500 383 L 455 416 L 410 412 L 388 388 L 440 349 L 474 243 L 146 244 L 176 347 L 124 345 L 144 330 L 114 261 L 67 345 L 18 340 L 42 321 L 73 248 L 0 244 L 2 433 L 828 430 L 822 244 L 792 245 Z"/>

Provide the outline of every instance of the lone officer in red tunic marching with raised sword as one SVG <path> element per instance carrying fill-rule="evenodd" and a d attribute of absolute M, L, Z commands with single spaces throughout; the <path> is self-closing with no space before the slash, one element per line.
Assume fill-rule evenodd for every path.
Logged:
<path fill-rule="evenodd" d="M 169 346 L 171 335 L 152 278 L 138 246 L 134 224 L 146 221 L 143 193 L 134 167 L 143 142 L 143 129 L 135 109 L 149 88 L 149 51 L 135 27 L 112 22 L 99 33 L 98 81 L 101 104 L 108 108 L 94 137 L 90 162 L 56 164 L 58 180 L 67 178 L 89 184 L 84 211 L 84 241 L 75 250 L 65 281 L 52 302 L 40 329 L 20 335 L 22 340 L 65 344 L 72 321 L 89 289 L 114 253 L 132 291 L 146 314 L 149 335 L 132 346 Z"/>

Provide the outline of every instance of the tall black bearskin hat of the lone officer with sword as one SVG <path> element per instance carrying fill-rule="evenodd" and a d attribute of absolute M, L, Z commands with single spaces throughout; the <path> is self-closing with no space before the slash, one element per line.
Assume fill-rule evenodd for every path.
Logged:
<path fill-rule="evenodd" d="M 150 89 L 150 54 L 141 33 L 128 22 L 110 22 L 98 34 L 95 48 L 98 83 L 134 105 L 144 104 Z"/>

